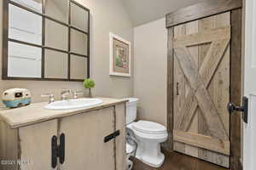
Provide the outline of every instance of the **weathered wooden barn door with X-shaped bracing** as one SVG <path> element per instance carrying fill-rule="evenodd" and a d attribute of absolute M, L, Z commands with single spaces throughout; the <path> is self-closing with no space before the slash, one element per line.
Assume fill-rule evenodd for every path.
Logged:
<path fill-rule="evenodd" d="M 174 27 L 174 150 L 230 167 L 230 12 Z"/>

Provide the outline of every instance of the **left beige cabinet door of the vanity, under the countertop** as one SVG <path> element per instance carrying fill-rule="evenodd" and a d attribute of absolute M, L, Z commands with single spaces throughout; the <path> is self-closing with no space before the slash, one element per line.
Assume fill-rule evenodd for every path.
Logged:
<path fill-rule="evenodd" d="M 51 139 L 57 135 L 57 121 L 19 128 L 20 170 L 55 170 L 51 167 Z"/>

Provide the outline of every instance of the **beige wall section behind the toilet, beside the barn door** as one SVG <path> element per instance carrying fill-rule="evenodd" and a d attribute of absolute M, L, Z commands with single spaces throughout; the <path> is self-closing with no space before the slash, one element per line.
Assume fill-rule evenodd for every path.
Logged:
<path fill-rule="evenodd" d="M 134 94 L 140 99 L 138 118 L 166 126 L 166 20 L 136 27 L 134 48 Z"/>

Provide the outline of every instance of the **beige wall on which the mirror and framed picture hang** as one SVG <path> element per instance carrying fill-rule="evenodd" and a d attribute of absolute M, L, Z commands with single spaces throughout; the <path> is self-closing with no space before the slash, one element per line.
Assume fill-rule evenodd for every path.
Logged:
<path fill-rule="evenodd" d="M 91 22 L 91 77 L 96 81 L 93 92 L 96 95 L 122 98 L 132 96 L 133 78 L 109 77 L 109 31 L 133 42 L 131 20 L 119 0 L 77 0 L 90 8 Z M 2 32 L 3 1 L 0 3 L 0 75 L 2 77 Z M 133 54 L 133 53 L 132 53 Z M 133 55 L 132 55 L 133 56 Z M 133 57 L 132 57 L 133 59 Z M 55 94 L 60 98 L 61 89 L 84 89 L 81 82 L 38 82 L 38 81 L 3 81 L 0 80 L 0 93 L 7 88 L 28 88 L 32 91 L 34 102 L 42 101 L 40 94 Z M 44 99 L 47 100 L 47 99 Z M 1 103 L 1 102 L 0 102 Z M 1 105 L 1 104 L 0 104 Z"/>

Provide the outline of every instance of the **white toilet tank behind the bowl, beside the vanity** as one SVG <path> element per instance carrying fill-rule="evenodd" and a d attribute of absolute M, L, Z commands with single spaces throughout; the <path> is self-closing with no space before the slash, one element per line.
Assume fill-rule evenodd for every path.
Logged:
<path fill-rule="evenodd" d="M 134 122 L 137 119 L 137 98 L 127 98 L 126 102 L 126 124 Z"/>

